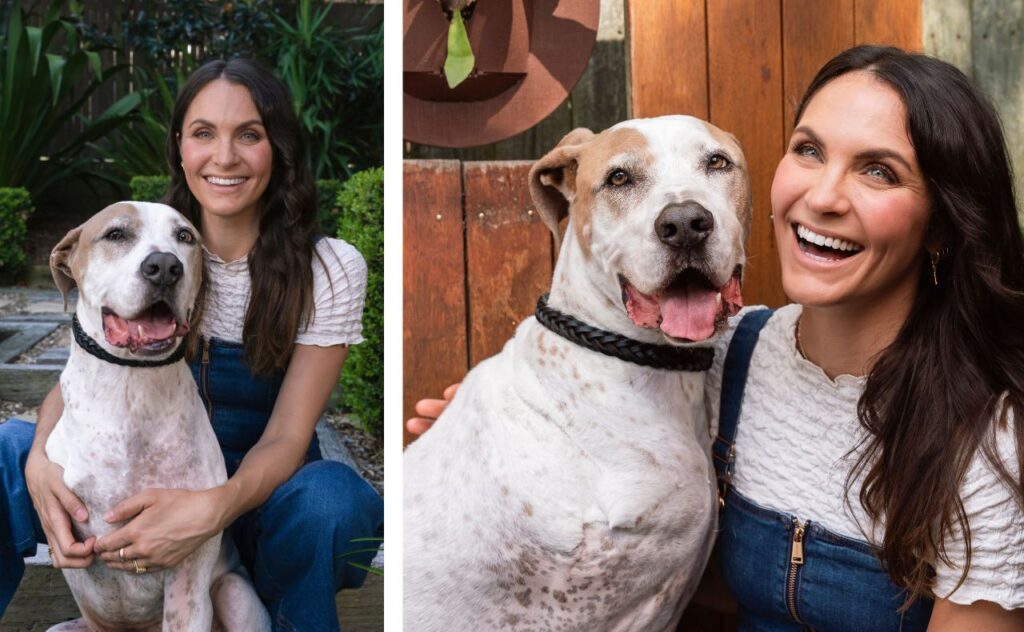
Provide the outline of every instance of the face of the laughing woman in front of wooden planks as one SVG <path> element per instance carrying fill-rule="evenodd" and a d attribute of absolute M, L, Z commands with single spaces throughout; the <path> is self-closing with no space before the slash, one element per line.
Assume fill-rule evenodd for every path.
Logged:
<path fill-rule="evenodd" d="M 863 71 L 807 104 L 771 188 L 791 300 L 909 307 L 931 202 L 905 121 L 896 91 Z"/>

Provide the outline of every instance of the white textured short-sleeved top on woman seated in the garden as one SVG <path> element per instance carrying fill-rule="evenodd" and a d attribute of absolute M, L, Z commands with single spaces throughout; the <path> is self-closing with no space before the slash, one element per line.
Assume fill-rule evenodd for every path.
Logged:
<path fill-rule="evenodd" d="M 367 295 L 367 263 L 355 248 L 336 239 L 322 239 L 314 256 L 312 321 L 299 327 L 295 342 L 316 346 L 362 342 L 362 302 Z M 242 325 L 249 305 L 249 258 L 225 262 L 203 249 L 206 257 L 206 304 L 200 333 L 242 342 Z M 327 269 L 325 269 L 325 266 Z"/>

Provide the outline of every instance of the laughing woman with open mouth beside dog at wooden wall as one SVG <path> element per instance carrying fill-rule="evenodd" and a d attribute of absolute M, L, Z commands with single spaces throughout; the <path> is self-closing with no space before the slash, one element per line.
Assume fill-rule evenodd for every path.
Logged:
<path fill-rule="evenodd" d="M 741 629 L 1021 629 L 1024 251 L 994 112 L 937 59 L 845 51 L 771 202 L 795 304 L 736 319 L 708 386 Z"/>

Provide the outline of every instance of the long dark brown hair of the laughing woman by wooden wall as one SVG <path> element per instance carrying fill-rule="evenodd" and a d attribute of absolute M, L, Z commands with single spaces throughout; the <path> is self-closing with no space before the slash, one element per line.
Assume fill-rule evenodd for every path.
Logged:
<path fill-rule="evenodd" d="M 822 86 L 853 71 L 901 96 L 933 204 L 927 240 L 948 249 L 937 285 L 922 252 L 910 313 L 867 375 L 858 403 L 864 450 L 847 479 L 849 502 L 863 475 L 860 502 L 885 525 L 880 555 L 908 604 L 932 595 L 952 538 L 966 540 L 961 583 L 967 577 L 971 529 L 959 491 L 979 451 L 1024 506 L 1024 478 L 1011 475 L 995 445 L 996 430 L 1013 423 L 1024 476 L 1024 253 L 998 117 L 967 77 L 926 55 L 858 46 L 818 72 L 797 121 Z"/>

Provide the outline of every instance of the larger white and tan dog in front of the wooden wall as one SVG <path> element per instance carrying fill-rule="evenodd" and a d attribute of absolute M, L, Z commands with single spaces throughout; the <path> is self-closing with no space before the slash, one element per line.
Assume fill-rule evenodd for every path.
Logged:
<path fill-rule="evenodd" d="M 578 129 L 529 185 L 556 239 L 569 217 L 544 311 L 713 355 L 751 221 L 733 136 L 683 116 Z M 521 323 L 406 451 L 406 629 L 674 630 L 717 520 L 703 380 Z"/>

